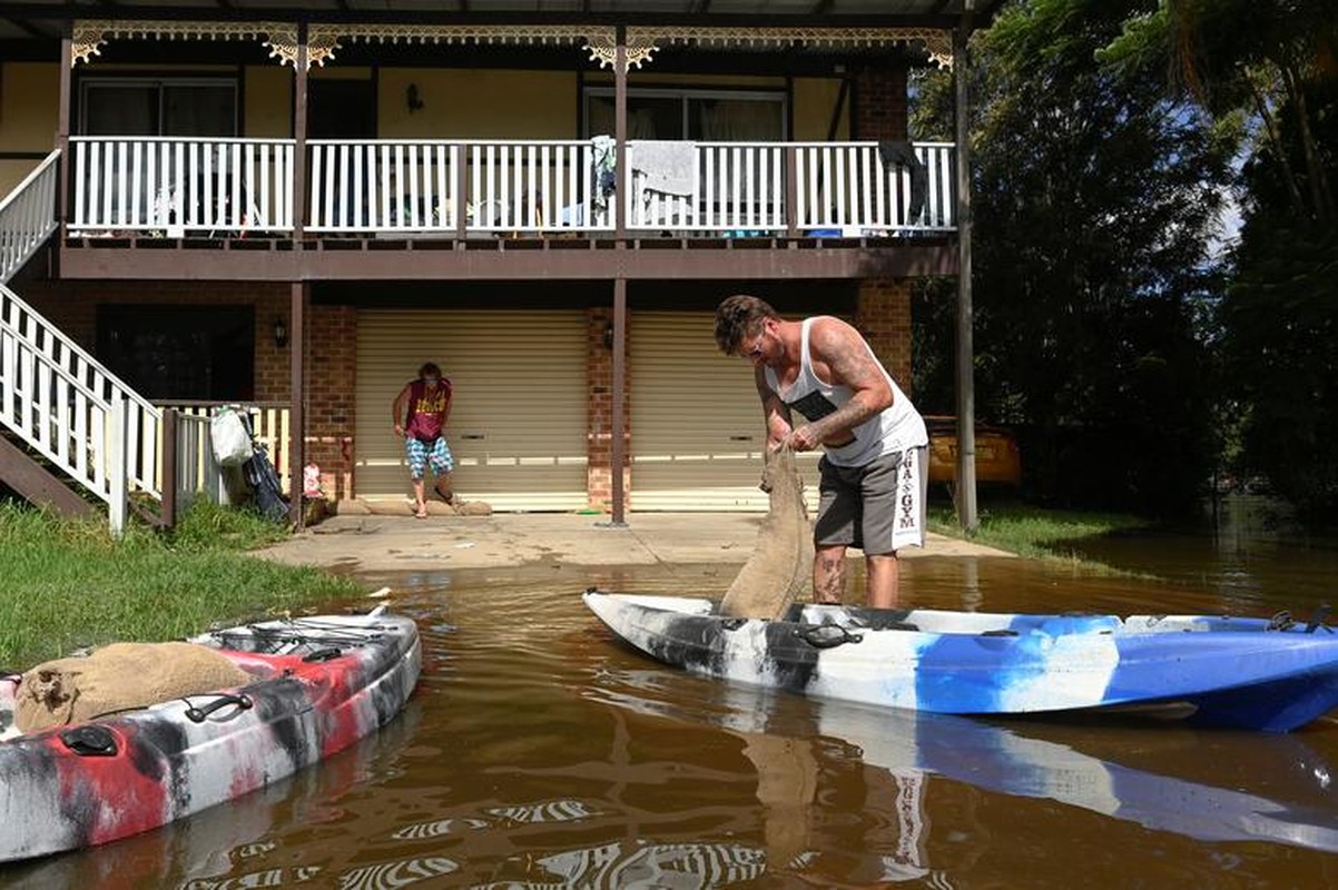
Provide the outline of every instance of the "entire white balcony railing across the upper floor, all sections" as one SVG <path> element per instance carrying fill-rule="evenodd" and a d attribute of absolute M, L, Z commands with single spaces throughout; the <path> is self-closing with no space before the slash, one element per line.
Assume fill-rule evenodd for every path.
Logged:
<path fill-rule="evenodd" d="M 293 143 L 76 138 L 75 231 L 292 231 Z M 950 143 L 312 140 L 305 230 L 898 235 L 950 231 Z"/>

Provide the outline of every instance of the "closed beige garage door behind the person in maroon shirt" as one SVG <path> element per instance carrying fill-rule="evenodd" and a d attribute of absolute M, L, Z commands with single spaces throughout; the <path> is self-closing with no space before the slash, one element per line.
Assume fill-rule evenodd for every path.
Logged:
<path fill-rule="evenodd" d="M 455 397 L 455 488 L 499 510 L 569 510 L 586 497 L 586 322 L 581 311 L 363 310 L 357 494 L 411 493 L 391 402 L 435 361 Z"/>

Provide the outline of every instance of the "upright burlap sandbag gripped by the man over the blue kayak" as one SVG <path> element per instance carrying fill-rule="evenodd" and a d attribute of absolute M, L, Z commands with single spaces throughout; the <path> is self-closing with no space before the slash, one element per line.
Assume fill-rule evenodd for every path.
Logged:
<path fill-rule="evenodd" d="M 814 529 L 795 453 L 788 448 L 772 452 L 764 477 L 771 509 L 752 556 L 720 603 L 721 615 L 779 619 L 812 583 Z"/>

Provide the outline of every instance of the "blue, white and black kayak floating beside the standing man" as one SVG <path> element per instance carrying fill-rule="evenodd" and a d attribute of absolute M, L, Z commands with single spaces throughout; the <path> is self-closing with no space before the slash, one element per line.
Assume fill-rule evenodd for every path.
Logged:
<path fill-rule="evenodd" d="M 706 599 L 587 591 L 599 620 L 694 674 L 935 714 L 1149 710 L 1288 732 L 1338 707 L 1330 628 L 1204 615 L 1006 615 L 795 605 L 725 617 Z"/>

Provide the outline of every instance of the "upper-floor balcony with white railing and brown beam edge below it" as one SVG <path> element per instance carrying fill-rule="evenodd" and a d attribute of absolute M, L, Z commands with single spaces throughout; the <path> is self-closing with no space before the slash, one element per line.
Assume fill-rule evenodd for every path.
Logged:
<path fill-rule="evenodd" d="M 949 143 L 633 140 L 621 202 L 615 148 L 602 136 L 309 140 L 298 182 L 292 139 L 75 136 L 64 269 L 118 275 L 86 254 L 134 246 L 169 255 L 136 258 L 147 277 L 181 277 L 169 269 L 173 253 L 195 263 L 213 250 L 248 254 L 242 278 L 393 278 L 404 274 L 395 249 L 404 249 L 512 255 L 506 270 L 438 257 L 435 271 L 415 267 L 421 275 L 582 277 L 590 257 L 581 254 L 615 246 L 619 212 L 633 247 L 733 249 L 743 239 L 942 250 L 955 231 Z M 266 250 L 276 255 L 257 257 Z M 518 253 L 531 257 L 515 265 Z M 739 274 L 765 277 L 775 263 L 752 257 Z M 201 273 L 231 274 L 210 266 Z M 831 269 L 811 275 L 846 274 L 850 261 L 828 257 L 822 266 Z M 644 271 L 670 270 L 650 261 Z"/>

